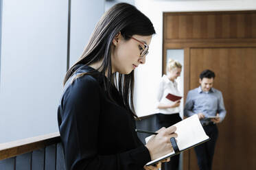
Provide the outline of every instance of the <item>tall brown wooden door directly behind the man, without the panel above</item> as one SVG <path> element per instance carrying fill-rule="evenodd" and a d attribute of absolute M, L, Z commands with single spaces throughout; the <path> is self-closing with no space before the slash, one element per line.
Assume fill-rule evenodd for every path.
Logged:
<path fill-rule="evenodd" d="M 256 48 L 191 48 L 189 89 L 199 86 L 204 69 L 216 73 L 226 118 L 220 124 L 213 169 L 256 169 Z M 198 169 L 194 149 L 189 169 Z"/>

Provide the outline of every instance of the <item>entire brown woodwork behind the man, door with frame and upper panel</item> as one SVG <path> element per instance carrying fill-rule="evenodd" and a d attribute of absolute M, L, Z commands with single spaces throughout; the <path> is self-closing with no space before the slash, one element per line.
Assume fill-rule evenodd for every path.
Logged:
<path fill-rule="evenodd" d="M 167 49 L 184 49 L 184 99 L 201 71 L 216 73 L 227 114 L 213 170 L 256 169 L 256 11 L 165 12 L 163 73 Z M 198 169 L 194 149 L 183 152 L 183 169 Z"/>

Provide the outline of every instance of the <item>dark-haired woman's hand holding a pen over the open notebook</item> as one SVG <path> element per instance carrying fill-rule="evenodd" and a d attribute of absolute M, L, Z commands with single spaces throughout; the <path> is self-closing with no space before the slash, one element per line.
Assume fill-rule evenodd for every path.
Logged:
<path fill-rule="evenodd" d="M 172 143 L 170 138 L 176 138 L 178 135 L 174 133 L 176 131 L 175 126 L 162 127 L 160 130 L 156 131 L 158 134 L 152 136 L 146 147 L 150 151 L 151 160 L 164 156 L 165 154 L 173 151 Z"/>

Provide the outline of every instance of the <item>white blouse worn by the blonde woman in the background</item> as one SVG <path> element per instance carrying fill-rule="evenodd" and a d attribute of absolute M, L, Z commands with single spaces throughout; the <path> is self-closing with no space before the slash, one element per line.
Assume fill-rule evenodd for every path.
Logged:
<path fill-rule="evenodd" d="M 157 106 L 159 106 L 159 104 L 174 104 L 174 101 L 170 101 L 169 99 L 166 98 L 168 93 L 171 93 L 172 95 L 178 95 L 181 96 L 181 93 L 178 91 L 178 86 L 177 86 L 177 82 L 174 80 L 174 82 L 172 82 L 171 80 L 168 79 L 167 75 L 163 75 L 163 77 L 161 77 L 161 82 L 159 84 L 159 90 L 157 93 L 157 104 L 156 104 L 156 113 L 163 113 L 163 114 L 174 114 L 174 113 L 178 113 L 180 112 L 180 107 L 176 107 L 176 108 L 165 108 L 165 109 L 160 109 L 157 108 Z"/>

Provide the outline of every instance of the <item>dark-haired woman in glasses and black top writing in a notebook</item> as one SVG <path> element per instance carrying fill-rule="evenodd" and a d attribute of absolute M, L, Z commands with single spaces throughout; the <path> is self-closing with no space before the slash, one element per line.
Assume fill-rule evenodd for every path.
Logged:
<path fill-rule="evenodd" d="M 58 106 L 67 169 L 143 169 L 172 151 L 176 127 L 162 128 L 147 145 L 135 132 L 134 70 L 146 62 L 152 34 L 148 17 L 127 3 L 113 6 L 97 23 L 67 71 Z"/>

